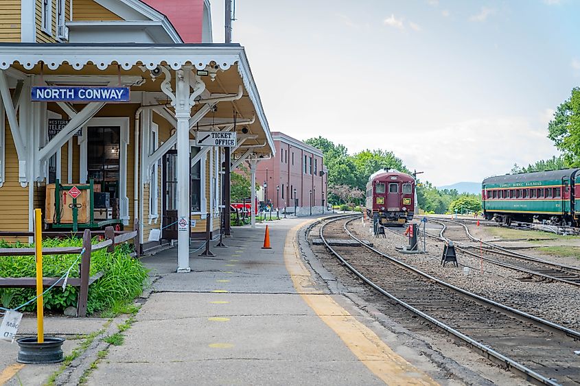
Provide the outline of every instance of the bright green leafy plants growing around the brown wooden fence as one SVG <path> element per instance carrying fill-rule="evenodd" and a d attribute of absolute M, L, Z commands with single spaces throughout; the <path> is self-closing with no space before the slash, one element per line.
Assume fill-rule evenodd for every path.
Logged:
<path fill-rule="evenodd" d="M 96 242 L 96 240 L 95 240 Z M 0 241 L 2 248 L 27 247 L 33 248 L 34 244 L 24 245 L 23 243 L 6 243 Z M 82 239 L 45 239 L 43 248 L 81 246 Z M 116 302 L 127 302 L 132 300 L 143 291 L 143 284 L 146 281 L 147 269 L 140 261 L 129 256 L 130 246 L 128 244 L 117 245 L 115 252 L 106 252 L 106 249 L 93 252 L 91 257 L 90 274 L 104 272 L 104 276 L 95 281 L 89 287 L 89 302 L 87 312 L 95 313 L 104 309 L 109 309 Z M 43 276 L 60 277 L 75 261 L 78 255 L 46 255 L 43 256 Z M 80 259 L 71 269 L 69 277 L 78 278 L 78 264 Z M 22 278 L 36 276 L 36 263 L 34 256 L 6 256 L 0 258 L 0 277 Z M 12 298 L 10 306 L 16 307 L 34 298 L 34 289 L 11 289 Z M 5 291 L 3 291 L 3 294 Z M 2 295 L 3 295 L 2 294 Z M 62 312 L 68 306 L 77 306 L 78 287 L 68 285 L 65 291 L 57 285 L 54 289 L 44 295 L 45 309 L 49 311 Z M 8 307 L 6 307 L 8 308 Z M 36 302 L 25 306 L 23 311 L 34 311 Z"/>

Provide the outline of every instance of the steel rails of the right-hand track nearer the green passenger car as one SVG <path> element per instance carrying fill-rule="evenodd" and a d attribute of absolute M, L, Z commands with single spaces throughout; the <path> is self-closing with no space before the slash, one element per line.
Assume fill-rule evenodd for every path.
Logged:
<path fill-rule="evenodd" d="M 434 222 L 435 224 L 439 224 L 439 225 L 443 226 L 443 228 L 441 228 L 441 232 L 439 232 L 439 239 L 441 239 L 442 241 L 453 241 L 453 240 L 448 239 L 447 237 L 443 236 L 443 233 L 447 229 L 447 226 L 445 226 L 445 224 L 443 224 L 443 222 L 438 221 L 438 220 L 433 220 L 433 219 L 431 221 Z M 505 248 L 500 247 L 499 245 L 495 245 L 492 243 L 488 243 L 487 241 L 477 239 L 471 233 L 469 233 L 469 229 L 467 228 L 467 226 L 465 226 L 465 224 L 461 224 L 461 223 L 458 223 L 458 222 L 452 221 L 452 220 L 443 220 L 443 221 L 448 221 L 448 222 L 451 222 L 453 224 L 458 224 L 458 225 L 463 226 L 463 228 L 465 229 L 465 232 L 467 233 L 467 237 L 469 237 L 469 239 L 471 239 L 472 241 L 480 241 L 481 243 L 483 243 L 483 244 L 487 245 L 489 248 L 491 248 L 491 249 L 486 248 L 485 252 L 499 254 L 502 256 L 507 256 L 507 257 L 512 257 L 512 258 L 519 258 L 520 260 L 531 261 L 532 263 L 547 265 L 548 267 L 554 267 L 555 269 L 559 269 L 561 272 L 568 273 L 568 274 L 575 274 L 575 275 L 580 274 L 580 269 L 577 267 L 571 267 L 570 265 L 553 263 L 552 261 L 546 261 L 546 260 L 542 260 L 541 258 L 535 258 L 533 256 L 528 256 L 525 254 L 520 254 L 518 252 L 513 252 L 511 250 L 507 250 Z M 432 234 L 428 234 L 428 236 L 435 237 Z M 453 242 L 460 243 L 458 241 L 453 241 Z M 461 244 L 463 244 L 463 243 L 461 243 Z M 465 245 L 465 244 L 463 244 L 463 245 Z M 580 281 L 575 282 L 575 281 L 567 280 L 565 278 L 558 278 L 558 277 L 552 276 L 550 274 L 544 274 L 542 272 L 534 271 L 533 269 L 527 269 L 524 267 L 519 267 L 518 265 L 512 265 L 509 263 L 504 263 L 502 261 L 497 261 L 497 260 L 494 260 L 493 258 L 483 257 L 479 254 L 474 253 L 474 252 L 470 252 L 468 250 L 465 250 L 465 248 L 456 247 L 456 249 L 460 250 L 461 252 L 463 252 L 465 254 L 469 254 L 469 255 L 477 257 L 477 258 L 482 258 L 484 261 L 487 261 L 488 263 L 499 265 L 501 267 L 515 269 L 516 271 L 525 272 L 526 274 L 531 274 L 533 276 L 539 276 L 542 278 L 547 278 L 550 280 L 564 282 L 564 283 L 569 284 L 569 285 L 575 285 L 575 286 L 580 287 Z"/>

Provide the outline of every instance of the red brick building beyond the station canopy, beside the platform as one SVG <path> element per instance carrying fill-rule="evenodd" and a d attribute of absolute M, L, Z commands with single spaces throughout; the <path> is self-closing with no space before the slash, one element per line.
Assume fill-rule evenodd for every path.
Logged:
<path fill-rule="evenodd" d="M 256 183 L 262 186 L 260 198 L 273 208 L 298 215 L 322 213 L 327 197 L 327 170 L 323 153 L 281 132 L 272 132 L 275 158 L 257 164 Z M 325 209 L 326 210 L 326 209 Z"/>

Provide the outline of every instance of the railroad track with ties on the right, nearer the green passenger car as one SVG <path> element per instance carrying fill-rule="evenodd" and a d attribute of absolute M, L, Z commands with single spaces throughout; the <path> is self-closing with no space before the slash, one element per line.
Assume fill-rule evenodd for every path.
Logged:
<path fill-rule="evenodd" d="M 476 258 L 481 258 L 487 263 L 498 265 L 500 267 L 524 272 L 529 276 L 535 276 L 541 280 L 564 282 L 568 285 L 575 285 L 580 287 L 580 268 L 555 263 L 553 261 L 542 260 L 541 258 L 536 258 L 534 256 L 529 256 L 520 252 L 507 250 L 506 248 L 502 248 L 499 245 L 489 243 L 487 241 L 482 241 L 474 237 L 469 232 L 469 228 L 467 228 L 465 224 L 461 224 L 457 221 L 432 219 L 431 222 L 441 225 L 442 228 L 441 232 L 439 232 L 439 236 L 435 236 L 430 233 L 428 233 L 428 236 L 435 237 L 445 242 L 453 241 L 454 244 L 462 244 L 464 247 L 456 245 L 455 249 L 463 252 L 464 254 L 468 254 L 469 256 L 474 256 Z M 471 243 L 477 243 L 478 245 L 469 245 L 461 243 L 461 241 L 452 240 L 448 237 L 445 237 L 444 233 L 448 230 L 448 226 L 445 225 L 445 222 L 461 226 L 463 232 L 467 236 L 467 239 Z M 485 248 L 483 248 L 483 245 L 485 245 Z M 468 248 L 478 248 L 479 252 L 472 252 L 468 250 Z M 493 254 L 496 257 L 491 258 L 489 256 L 483 256 L 483 254 Z"/>

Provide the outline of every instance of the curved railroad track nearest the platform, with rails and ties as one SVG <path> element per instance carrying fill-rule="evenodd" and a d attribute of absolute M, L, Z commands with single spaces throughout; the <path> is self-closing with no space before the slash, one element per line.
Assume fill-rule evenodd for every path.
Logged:
<path fill-rule="evenodd" d="M 580 385 L 580 357 L 574 354 L 580 332 L 450 285 L 371 248 L 348 230 L 353 220 L 329 219 L 320 238 L 367 285 L 527 381 Z M 365 248 L 331 246 L 328 239 L 353 239 Z"/>

